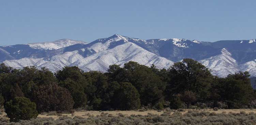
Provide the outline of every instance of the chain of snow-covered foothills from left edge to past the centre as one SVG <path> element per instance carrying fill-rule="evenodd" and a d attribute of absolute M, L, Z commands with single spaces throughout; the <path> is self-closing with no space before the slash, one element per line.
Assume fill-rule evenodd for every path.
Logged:
<path fill-rule="evenodd" d="M 64 66 L 78 66 L 84 71 L 95 70 L 105 72 L 109 65 L 123 65 L 129 61 L 136 61 L 147 66 L 155 64 L 157 68 L 168 68 L 174 63 L 166 58 L 158 57 L 154 53 L 131 42 L 118 45 L 112 49 L 100 51 L 86 58 L 82 57 L 78 53 L 78 50 L 76 50 L 57 54 L 48 60 L 43 58 L 23 58 L 20 60 L 8 60 L 3 63 L 15 68 L 22 68 L 24 66 L 36 66 L 38 68 L 47 67 L 52 72 L 56 72 Z"/>

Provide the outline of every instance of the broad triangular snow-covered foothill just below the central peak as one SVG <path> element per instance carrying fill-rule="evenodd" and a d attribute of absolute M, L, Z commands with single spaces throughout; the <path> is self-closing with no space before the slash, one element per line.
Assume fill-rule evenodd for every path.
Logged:
<path fill-rule="evenodd" d="M 147 66 L 155 64 L 157 68 L 168 68 L 174 63 L 129 42 L 113 49 L 95 53 L 85 58 L 83 62 L 77 62 L 76 65 L 85 71 L 86 69 L 106 71 L 111 64 L 123 65 L 129 61 L 136 61 Z"/>

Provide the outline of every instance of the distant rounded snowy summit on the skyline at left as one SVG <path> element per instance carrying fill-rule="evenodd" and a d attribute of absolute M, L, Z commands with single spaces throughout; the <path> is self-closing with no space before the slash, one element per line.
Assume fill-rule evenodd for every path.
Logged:
<path fill-rule="evenodd" d="M 34 49 L 55 50 L 55 49 L 59 49 L 59 48 L 63 48 L 63 47 L 67 47 L 75 44 L 87 44 L 87 43 L 83 41 L 61 39 L 54 42 L 31 43 L 27 45 L 29 45 L 31 48 L 34 48 Z"/>

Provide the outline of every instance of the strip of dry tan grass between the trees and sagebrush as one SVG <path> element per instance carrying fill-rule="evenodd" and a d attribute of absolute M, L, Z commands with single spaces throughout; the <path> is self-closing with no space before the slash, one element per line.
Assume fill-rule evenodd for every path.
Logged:
<path fill-rule="evenodd" d="M 244 111 L 246 113 L 250 113 L 250 112 L 254 112 L 256 113 L 256 109 L 219 109 L 218 111 L 214 111 L 213 109 L 183 109 L 183 111 L 180 111 L 182 114 L 186 113 L 189 110 L 197 110 L 197 111 L 208 111 L 208 112 L 215 112 L 215 113 L 240 113 L 241 111 Z M 176 112 L 177 110 L 172 110 L 171 112 Z M 124 115 L 124 116 L 130 116 L 132 114 L 135 115 L 147 115 L 148 113 L 151 114 L 163 114 L 165 111 L 156 111 L 156 110 L 147 110 L 147 111 L 76 111 L 73 114 L 54 114 L 54 113 L 43 113 L 43 114 L 39 114 L 38 117 L 41 118 L 54 118 L 54 119 L 58 119 L 60 116 L 69 116 L 71 118 L 73 118 L 74 116 L 80 116 L 80 117 L 84 117 L 87 118 L 88 116 L 97 116 L 97 115 L 101 115 L 101 114 L 112 114 L 114 116 L 117 115 Z M 2 113 L 0 115 L 0 117 L 6 117 L 6 113 Z"/>

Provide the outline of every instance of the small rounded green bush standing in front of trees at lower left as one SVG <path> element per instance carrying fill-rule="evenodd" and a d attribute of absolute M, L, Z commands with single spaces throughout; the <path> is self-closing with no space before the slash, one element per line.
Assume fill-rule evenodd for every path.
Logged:
<path fill-rule="evenodd" d="M 4 109 L 11 122 L 30 120 L 38 115 L 35 103 L 25 97 L 15 97 L 13 100 L 8 101 Z"/>

